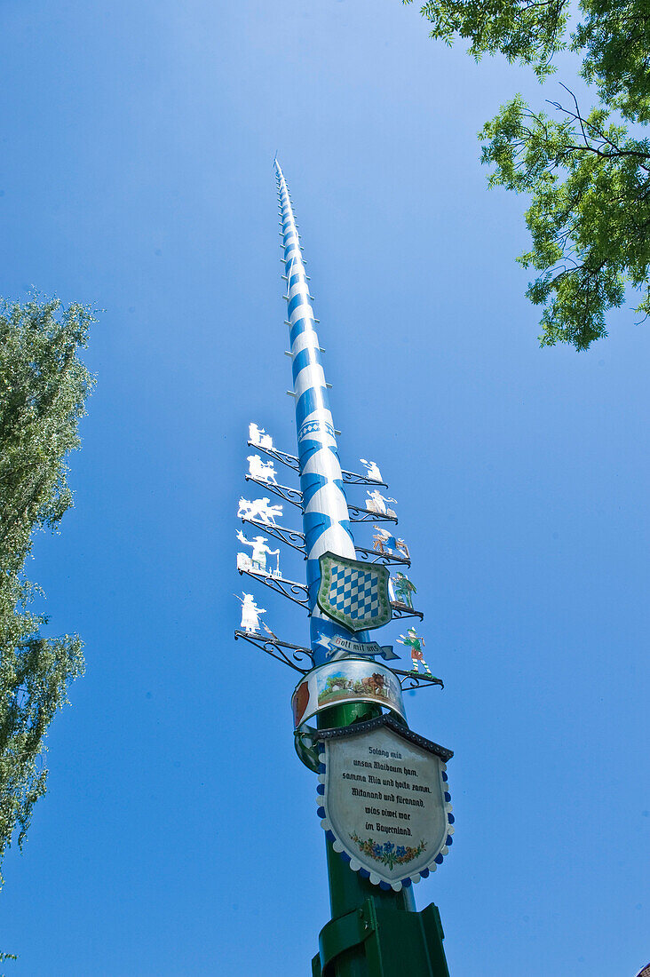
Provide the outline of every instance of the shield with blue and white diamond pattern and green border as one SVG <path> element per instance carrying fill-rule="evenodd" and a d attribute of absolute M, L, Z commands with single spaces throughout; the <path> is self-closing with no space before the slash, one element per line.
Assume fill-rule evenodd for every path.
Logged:
<path fill-rule="evenodd" d="M 316 600 L 332 620 L 350 631 L 387 624 L 393 616 L 388 597 L 388 570 L 373 563 L 324 553 Z"/>

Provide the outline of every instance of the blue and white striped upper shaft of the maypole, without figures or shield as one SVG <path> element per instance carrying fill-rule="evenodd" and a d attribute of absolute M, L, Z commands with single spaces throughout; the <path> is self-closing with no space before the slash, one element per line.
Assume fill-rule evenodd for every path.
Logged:
<path fill-rule="evenodd" d="M 321 582 L 321 554 L 329 551 L 353 560 L 356 554 L 300 238 L 286 181 L 277 159 L 275 167 L 284 248 L 286 318 L 289 322 L 289 348 L 293 365 L 303 528 L 307 551 L 307 586 L 312 615 L 311 643 L 314 663 L 318 665 L 327 660 L 329 638 L 338 634 L 355 641 L 365 641 L 368 640 L 368 632 L 352 634 L 324 616 L 316 603 Z"/>

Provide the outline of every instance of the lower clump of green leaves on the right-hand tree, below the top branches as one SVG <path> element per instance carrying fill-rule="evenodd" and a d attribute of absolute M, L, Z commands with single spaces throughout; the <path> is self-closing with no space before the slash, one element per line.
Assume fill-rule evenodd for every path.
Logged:
<path fill-rule="evenodd" d="M 542 346 L 585 350 L 607 335 L 605 314 L 623 305 L 627 283 L 650 315 L 650 143 L 602 108 L 564 112 L 557 122 L 514 98 L 481 133 L 483 162 L 496 166 L 491 186 L 532 196 L 533 246 L 518 261 L 542 273 L 527 292 L 544 306 Z"/>

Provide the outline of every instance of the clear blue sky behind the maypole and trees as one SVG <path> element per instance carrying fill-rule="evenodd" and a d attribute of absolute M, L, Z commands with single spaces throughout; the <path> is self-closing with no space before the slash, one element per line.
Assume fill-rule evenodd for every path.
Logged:
<path fill-rule="evenodd" d="M 539 349 L 525 201 L 486 190 L 476 141 L 510 94 L 557 87 L 430 41 L 398 0 L 4 0 L 0 51 L 0 292 L 106 310 L 76 508 L 28 568 L 87 675 L 6 860 L 8 977 L 302 977 L 329 917 L 293 673 L 233 641 L 248 421 L 294 449 L 276 150 L 343 462 L 376 459 L 399 500 L 447 685 L 407 699 L 455 749 L 455 845 L 418 907 L 453 977 L 632 977 L 648 326 Z"/>

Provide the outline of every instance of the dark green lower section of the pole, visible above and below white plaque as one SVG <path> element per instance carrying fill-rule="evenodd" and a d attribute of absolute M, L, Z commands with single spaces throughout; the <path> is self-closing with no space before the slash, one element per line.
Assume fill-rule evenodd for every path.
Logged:
<path fill-rule="evenodd" d="M 363 702 L 332 706 L 319 728 L 372 719 Z M 434 905 L 415 910 L 412 886 L 386 891 L 360 876 L 326 841 L 331 919 L 321 931 L 313 977 L 449 977 L 443 928 Z"/>

